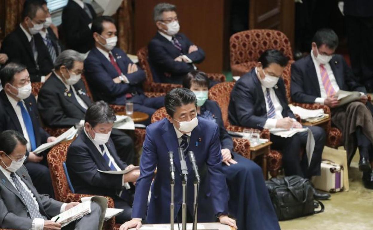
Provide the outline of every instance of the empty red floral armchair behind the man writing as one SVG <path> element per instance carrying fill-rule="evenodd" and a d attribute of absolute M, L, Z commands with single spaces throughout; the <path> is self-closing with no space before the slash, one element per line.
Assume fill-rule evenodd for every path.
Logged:
<path fill-rule="evenodd" d="M 233 34 L 229 39 L 229 49 L 233 76 L 249 72 L 259 56 L 269 49 L 280 50 L 293 60 L 289 39 L 282 32 L 272 29 L 251 29 Z"/>

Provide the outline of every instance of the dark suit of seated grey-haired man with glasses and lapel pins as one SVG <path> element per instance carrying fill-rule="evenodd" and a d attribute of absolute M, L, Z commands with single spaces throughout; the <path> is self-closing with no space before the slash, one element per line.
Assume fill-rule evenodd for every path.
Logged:
<path fill-rule="evenodd" d="M 78 97 L 87 106 L 92 104 L 82 81 L 78 81 L 70 87 L 74 87 Z M 78 103 L 75 97 L 69 97 L 66 91 L 66 86 L 54 73 L 41 87 L 38 96 L 38 108 L 44 125 L 53 128 L 69 128 L 79 123 L 80 120 L 84 120 L 85 108 Z M 118 129 L 113 129 L 111 138 L 120 158 L 132 163 L 135 155 L 132 139 Z"/>

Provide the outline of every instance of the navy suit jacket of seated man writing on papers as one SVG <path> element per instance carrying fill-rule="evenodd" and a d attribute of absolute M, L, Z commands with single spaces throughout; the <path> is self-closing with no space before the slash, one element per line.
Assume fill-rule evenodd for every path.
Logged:
<path fill-rule="evenodd" d="M 282 116 L 295 118 L 286 100 L 283 79 L 273 87 L 282 106 Z M 228 107 L 229 122 L 232 125 L 263 129 L 267 121 L 267 108 L 255 68 L 242 76 L 233 87 Z"/>

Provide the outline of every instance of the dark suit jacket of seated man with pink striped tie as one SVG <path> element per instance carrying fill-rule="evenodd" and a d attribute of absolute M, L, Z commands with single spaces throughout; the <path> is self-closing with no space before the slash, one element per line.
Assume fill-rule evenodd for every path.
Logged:
<path fill-rule="evenodd" d="M 351 68 L 341 55 L 333 55 L 329 64 L 340 89 L 367 92 L 355 79 Z M 321 97 L 319 80 L 312 57 L 308 55 L 291 65 L 291 100 L 298 103 L 314 103 L 317 97 Z"/>

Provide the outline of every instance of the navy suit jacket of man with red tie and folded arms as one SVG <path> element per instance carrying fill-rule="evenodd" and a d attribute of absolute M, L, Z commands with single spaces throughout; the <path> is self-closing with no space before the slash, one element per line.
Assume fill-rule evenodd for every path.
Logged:
<path fill-rule="evenodd" d="M 113 56 L 129 84 L 116 84 L 114 78 L 119 76 L 113 64 L 94 47 L 84 60 L 85 76 L 95 101 L 103 100 L 109 104 L 125 105 L 126 93 L 142 94 L 141 83 L 145 80 L 145 72 L 140 67 L 134 73 L 127 73 L 128 64 L 133 62 L 119 48 L 113 48 Z"/>

